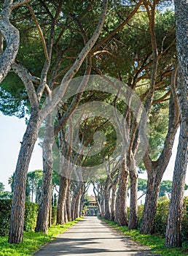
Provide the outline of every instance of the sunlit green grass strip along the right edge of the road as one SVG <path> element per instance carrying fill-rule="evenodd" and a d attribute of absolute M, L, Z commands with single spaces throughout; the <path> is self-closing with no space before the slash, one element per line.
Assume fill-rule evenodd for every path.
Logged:
<path fill-rule="evenodd" d="M 179 255 L 188 255 L 188 250 L 184 244 L 182 248 L 167 248 L 164 246 L 165 238 L 162 238 L 157 235 L 141 235 L 139 230 L 128 230 L 128 227 L 120 227 L 114 222 L 111 222 L 107 219 L 103 219 L 106 223 L 115 227 L 120 233 L 125 236 L 130 236 L 134 241 L 138 241 L 145 246 L 149 246 L 152 249 L 154 255 L 161 256 L 179 256 Z"/>

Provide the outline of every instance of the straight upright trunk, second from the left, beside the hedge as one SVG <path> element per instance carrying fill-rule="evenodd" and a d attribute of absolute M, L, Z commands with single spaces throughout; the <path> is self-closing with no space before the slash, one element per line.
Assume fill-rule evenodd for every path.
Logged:
<path fill-rule="evenodd" d="M 43 143 L 42 197 L 35 231 L 47 234 L 48 217 L 52 200 L 52 146 L 54 142 L 52 114 L 47 116 L 45 126 Z"/>

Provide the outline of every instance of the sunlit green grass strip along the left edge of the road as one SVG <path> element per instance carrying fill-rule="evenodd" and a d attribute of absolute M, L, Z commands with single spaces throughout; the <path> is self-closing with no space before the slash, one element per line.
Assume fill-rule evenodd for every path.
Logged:
<path fill-rule="evenodd" d="M 65 225 L 52 226 L 48 230 L 48 235 L 35 232 L 24 232 L 23 242 L 20 244 L 9 244 L 8 237 L 0 237 L 0 255 L 1 256 L 28 256 L 33 255 L 37 249 L 40 249 L 44 244 L 47 244 L 52 238 L 65 232 L 69 227 L 75 225 L 80 219 L 72 222 L 67 222 Z"/>

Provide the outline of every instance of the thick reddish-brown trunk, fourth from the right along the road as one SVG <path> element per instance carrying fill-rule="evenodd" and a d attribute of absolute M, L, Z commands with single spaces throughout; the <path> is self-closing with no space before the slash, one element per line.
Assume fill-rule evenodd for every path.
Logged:
<path fill-rule="evenodd" d="M 115 222 L 120 226 L 128 225 L 127 214 L 128 170 L 123 159 L 120 170 L 120 184 L 117 192 Z"/>

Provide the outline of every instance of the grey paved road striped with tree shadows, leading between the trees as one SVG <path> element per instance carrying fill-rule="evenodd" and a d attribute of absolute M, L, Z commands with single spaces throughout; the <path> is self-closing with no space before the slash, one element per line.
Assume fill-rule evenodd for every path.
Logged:
<path fill-rule="evenodd" d="M 151 256 L 152 253 L 121 236 L 97 217 L 85 217 L 35 255 Z"/>

